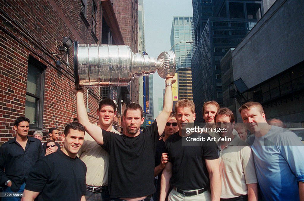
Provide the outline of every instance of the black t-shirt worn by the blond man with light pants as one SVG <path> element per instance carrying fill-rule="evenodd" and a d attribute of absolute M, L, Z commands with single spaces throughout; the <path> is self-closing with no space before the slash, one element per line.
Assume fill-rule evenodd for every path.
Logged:
<path fill-rule="evenodd" d="M 208 138 L 207 133 L 192 133 L 191 137 Z M 205 159 L 218 159 L 216 142 L 201 142 L 201 146 L 182 146 L 178 132 L 170 136 L 165 144 L 172 163 L 172 186 L 183 190 L 209 188 L 209 173 Z"/>

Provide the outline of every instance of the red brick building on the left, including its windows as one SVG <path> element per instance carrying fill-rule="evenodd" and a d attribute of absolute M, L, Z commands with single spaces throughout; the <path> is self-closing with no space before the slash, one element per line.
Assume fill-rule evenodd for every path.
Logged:
<path fill-rule="evenodd" d="M 77 118 L 73 47 L 68 58 L 57 49 L 64 36 L 80 43 L 123 45 L 121 33 L 110 0 L 1 1 L 0 144 L 15 136 L 12 127 L 19 116 L 30 119 L 31 133 L 43 130 L 45 135 L 51 127 L 63 132 Z M 89 89 L 91 122 L 98 119 L 99 99 L 99 88 Z"/>

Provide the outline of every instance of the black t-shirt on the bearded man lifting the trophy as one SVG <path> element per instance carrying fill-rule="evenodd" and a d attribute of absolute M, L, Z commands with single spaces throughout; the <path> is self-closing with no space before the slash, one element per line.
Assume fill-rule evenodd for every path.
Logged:
<path fill-rule="evenodd" d="M 102 135 L 102 148 L 110 154 L 110 196 L 132 198 L 154 193 L 155 147 L 159 139 L 157 122 L 136 137 L 105 130 Z"/>

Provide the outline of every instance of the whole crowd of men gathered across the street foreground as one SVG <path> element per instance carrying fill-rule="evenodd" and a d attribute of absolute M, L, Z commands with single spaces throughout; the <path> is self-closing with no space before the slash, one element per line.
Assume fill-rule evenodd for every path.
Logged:
<path fill-rule="evenodd" d="M 179 100 L 172 112 L 172 84 L 165 81 L 164 107 L 154 123 L 144 122 L 140 105 L 129 104 L 123 130 L 112 122 L 116 104 L 103 99 L 98 122 L 91 123 L 84 90 L 76 96 L 77 122 L 28 136 L 29 119 L 14 123 L 16 137 L 0 147 L 0 183 L 5 193 L 23 193 L 3 200 L 304 200 L 304 146 L 282 122 L 266 121 L 263 107 L 247 102 L 239 109 L 243 123 L 216 101 L 203 106 L 206 128 L 221 132 L 192 132 L 195 105 Z M 252 134 L 247 138 L 248 131 Z M 183 145 L 185 137 L 230 139 Z"/>

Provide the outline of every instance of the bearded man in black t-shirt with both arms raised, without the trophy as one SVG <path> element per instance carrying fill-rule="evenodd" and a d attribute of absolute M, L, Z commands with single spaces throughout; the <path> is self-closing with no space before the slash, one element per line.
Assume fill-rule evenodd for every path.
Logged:
<path fill-rule="evenodd" d="M 143 109 L 138 104 L 127 106 L 123 114 L 126 131 L 123 135 L 102 130 L 89 122 L 84 103 L 84 91 L 74 90 L 77 116 L 86 132 L 110 154 L 109 192 L 112 199 L 149 199 L 155 192 L 154 163 L 155 147 L 159 133 L 163 133 L 172 111 L 172 83 L 176 79 L 166 79 L 163 111 L 146 130 L 140 132 L 144 122 Z"/>

